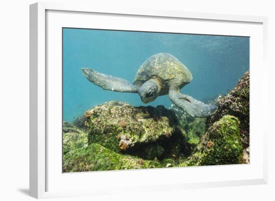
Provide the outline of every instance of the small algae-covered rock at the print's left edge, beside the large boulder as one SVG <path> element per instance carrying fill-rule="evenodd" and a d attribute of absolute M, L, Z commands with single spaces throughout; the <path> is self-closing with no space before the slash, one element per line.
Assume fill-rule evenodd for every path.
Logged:
<path fill-rule="evenodd" d="M 63 154 L 66 154 L 70 150 L 76 148 L 87 147 L 88 145 L 88 134 L 72 123 L 63 122 Z"/>

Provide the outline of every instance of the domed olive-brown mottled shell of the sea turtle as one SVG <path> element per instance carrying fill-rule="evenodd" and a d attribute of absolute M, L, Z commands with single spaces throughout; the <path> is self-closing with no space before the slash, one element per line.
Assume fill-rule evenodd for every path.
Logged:
<path fill-rule="evenodd" d="M 135 74 L 133 84 L 142 85 L 152 77 L 158 77 L 165 84 L 176 79 L 177 84 L 185 85 L 192 80 L 191 72 L 174 56 L 158 53 L 149 57 Z"/>

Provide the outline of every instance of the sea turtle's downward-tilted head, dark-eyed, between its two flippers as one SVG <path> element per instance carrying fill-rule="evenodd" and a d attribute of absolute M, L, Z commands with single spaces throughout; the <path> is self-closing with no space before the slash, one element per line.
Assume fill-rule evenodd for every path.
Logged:
<path fill-rule="evenodd" d="M 152 80 L 144 82 L 138 89 L 138 95 L 143 103 L 149 103 L 157 98 L 159 92 L 158 84 Z"/>

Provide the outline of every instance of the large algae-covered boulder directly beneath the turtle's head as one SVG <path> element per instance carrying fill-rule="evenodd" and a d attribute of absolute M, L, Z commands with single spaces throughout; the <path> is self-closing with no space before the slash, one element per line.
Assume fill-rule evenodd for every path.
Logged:
<path fill-rule="evenodd" d="M 179 154 L 184 146 L 185 132 L 174 112 L 163 106 L 134 107 L 109 101 L 86 111 L 84 116 L 88 143 L 98 143 L 118 153 L 153 159 Z M 172 140 L 174 136 L 176 140 Z"/>

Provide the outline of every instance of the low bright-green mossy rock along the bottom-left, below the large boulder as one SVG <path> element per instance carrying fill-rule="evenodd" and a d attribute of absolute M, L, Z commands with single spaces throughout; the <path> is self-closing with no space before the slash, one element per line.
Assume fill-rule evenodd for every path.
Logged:
<path fill-rule="evenodd" d="M 63 157 L 63 172 L 154 168 L 159 165 L 157 161 L 120 154 L 96 143 L 73 149 Z"/>

